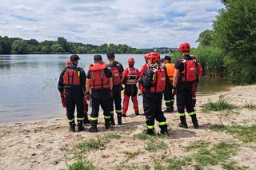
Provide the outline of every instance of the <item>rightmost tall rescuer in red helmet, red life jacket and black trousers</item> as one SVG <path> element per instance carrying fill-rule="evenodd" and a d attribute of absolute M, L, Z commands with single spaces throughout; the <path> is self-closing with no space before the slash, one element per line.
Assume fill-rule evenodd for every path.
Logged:
<path fill-rule="evenodd" d="M 182 53 L 182 57 L 175 62 L 174 81 L 173 81 L 173 93 L 177 93 L 177 108 L 178 115 L 180 117 L 181 128 L 188 128 L 186 124 L 186 112 L 192 119 L 194 128 L 199 128 L 197 115 L 194 112 L 194 106 L 192 105 L 192 87 L 194 81 L 197 79 L 197 61 L 190 56 L 190 44 L 187 42 L 182 43 L 179 46 L 179 51 Z"/>

